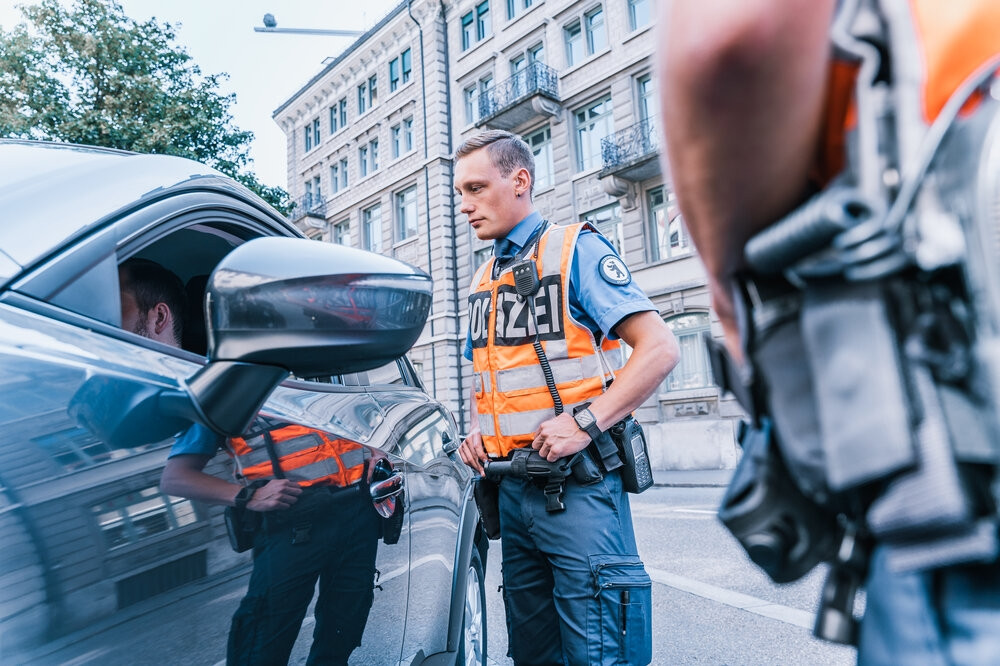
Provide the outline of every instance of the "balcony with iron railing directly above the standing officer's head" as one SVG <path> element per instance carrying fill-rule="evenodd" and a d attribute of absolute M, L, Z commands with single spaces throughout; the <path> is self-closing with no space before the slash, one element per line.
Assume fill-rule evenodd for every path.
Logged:
<path fill-rule="evenodd" d="M 479 96 L 476 127 L 513 130 L 542 116 L 558 116 L 559 74 L 533 62 Z"/>

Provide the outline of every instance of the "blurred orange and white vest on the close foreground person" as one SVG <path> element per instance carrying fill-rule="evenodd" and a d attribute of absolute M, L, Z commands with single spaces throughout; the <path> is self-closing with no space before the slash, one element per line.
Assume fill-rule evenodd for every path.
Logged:
<path fill-rule="evenodd" d="M 997 0 L 881 0 L 890 26 L 896 100 L 933 123 L 948 99 L 973 75 L 1000 59 Z M 856 123 L 853 103 L 858 64 L 835 59 L 827 87 L 826 119 L 814 180 L 825 185 L 846 163 L 846 135 Z M 963 112 L 981 100 L 968 100 Z"/>

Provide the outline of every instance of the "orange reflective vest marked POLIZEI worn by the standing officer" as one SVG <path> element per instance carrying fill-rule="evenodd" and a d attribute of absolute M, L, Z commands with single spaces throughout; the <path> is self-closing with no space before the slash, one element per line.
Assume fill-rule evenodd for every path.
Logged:
<path fill-rule="evenodd" d="M 528 255 L 535 258 L 540 282 L 534 317 L 529 304 L 517 297 L 510 266 L 493 279 L 496 259 L 490 259 L 472 279 L 469 327 L 476 416 L 492 457 L 530 445 L 538 426 L 555 416 L 533 346 L 536 332 L 568 412 L 600 395 L 620 367 L 619 342 L 598 341 L 570 315 L 569 274 L 583 227 L 550 226 Z"/>

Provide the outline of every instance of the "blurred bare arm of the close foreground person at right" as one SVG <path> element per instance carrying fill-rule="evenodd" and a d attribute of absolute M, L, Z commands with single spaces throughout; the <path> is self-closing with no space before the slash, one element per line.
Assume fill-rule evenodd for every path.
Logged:
<path fill-rule="evenodd" d="M 681 211 L 738 353 L 729 281 L 795 207 L 818 145 L 836 0 L 665 2 L 660 108 Z"/>

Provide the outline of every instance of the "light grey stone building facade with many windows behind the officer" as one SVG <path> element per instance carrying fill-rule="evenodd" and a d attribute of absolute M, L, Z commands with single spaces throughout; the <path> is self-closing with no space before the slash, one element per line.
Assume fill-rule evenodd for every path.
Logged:
<path fill-rule="evenodd" d="M 590 221 L 611 239 L 681 343 L 680 365 L 637 413 L 654 467 L 728 468 L 740 411 L 712 383 L 702 336 L 720 331 L 660 164 L 654 5 L 402 2 L 274 118 L 288 137 L 301 229 L 434 277 L 431 316 L 409 356 L 456 414 L 467 414 L 471 376 L 461 358 L 466 293 L 490 244 L 458 212 L 451 155 L 487 128 L 524 137 L 538 210 Z"/>

